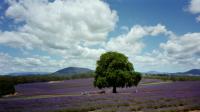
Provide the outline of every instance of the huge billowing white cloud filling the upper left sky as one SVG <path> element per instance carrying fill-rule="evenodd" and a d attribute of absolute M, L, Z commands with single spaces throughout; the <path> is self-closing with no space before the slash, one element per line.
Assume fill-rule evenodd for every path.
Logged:
<path fill-rule="evenodd" d="M 88 4 L 89 2 L 89 4 Z M 0 43 L 27 49 L 64 50 L 106 40 L 118 20 L 116 11 L 100 0 L 9 0 L 6 16 L 17 31 L 1 32 Z M 75 48 L 74 48 L 75 49 Z"/>

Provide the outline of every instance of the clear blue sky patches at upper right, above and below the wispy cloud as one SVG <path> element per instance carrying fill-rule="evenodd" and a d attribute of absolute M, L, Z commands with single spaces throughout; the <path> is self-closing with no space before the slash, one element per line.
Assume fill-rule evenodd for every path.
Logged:
<path fill-rule="evenodd" d="M 195 15 L 189 13 L 188 5 L 190 0 L 107 0 L 112 9 L 117 10 L 119 15 L 118 26 L 132 27 L 133 25 L 156 25 L 163 24 L 175 32 L 183 35 L 188 32 L 199 32 L 200 25 L 194 20 Z M 120 34 L 114 31 L 112 35 Z M 144 38 L 148 46 L 144 52 L 149 52 L 159 46 L 161 42 L 166 42 L 163 35 L 157 38 Z"/>

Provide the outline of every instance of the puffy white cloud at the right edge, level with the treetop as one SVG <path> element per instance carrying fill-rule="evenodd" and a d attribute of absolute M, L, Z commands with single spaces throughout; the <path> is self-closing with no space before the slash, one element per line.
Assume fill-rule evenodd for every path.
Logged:
<path fill-rule="evenodd" d="M 178 63 L 194 65 L 200 58 L 200 33 L 187 33 L 180 37 L 170 39 L 160 44 L 168 57 L 172 57 Z M 196 60 L 193 60 L 193 58 Z M 200 63 L 197 63 L 200 64 Z"/>

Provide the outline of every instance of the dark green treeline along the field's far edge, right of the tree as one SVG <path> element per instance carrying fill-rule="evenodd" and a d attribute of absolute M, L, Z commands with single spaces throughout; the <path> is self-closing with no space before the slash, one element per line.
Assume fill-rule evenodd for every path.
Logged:
<path fill-rule="evenodd" d="M 168 74 L 151 74 L 144 75 L 144 78 L 161 79 L 164 81 L 200 81 L 200 76 L 186 76 L 186 75 L 168 75 Z"/>

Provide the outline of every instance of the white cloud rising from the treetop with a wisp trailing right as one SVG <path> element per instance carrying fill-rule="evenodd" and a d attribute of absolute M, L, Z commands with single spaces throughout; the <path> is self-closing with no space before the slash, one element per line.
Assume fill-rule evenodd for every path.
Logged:
<path fill-rule="evenodd" d="M 164 25 L 156 26 L 133 26 L 126 34 L 112 38 L 106 45 L 107 50 L 120 51 L 128 56 L 138 54 L 145 44 L 141 41 L 145 36 L 157 36 L 160 34 L 171 35 Z"/>

